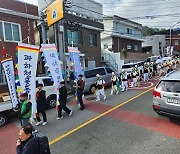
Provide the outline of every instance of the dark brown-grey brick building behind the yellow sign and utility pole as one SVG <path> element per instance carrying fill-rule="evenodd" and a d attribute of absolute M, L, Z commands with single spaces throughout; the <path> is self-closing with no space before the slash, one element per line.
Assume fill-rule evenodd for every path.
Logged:
<path fill-rule="evenodd" d="M 39 12 L 44 11 L 53 2 L 54 0 L 46 0 L 46 3 L 44 0 L 38 0 Z M 71 0 L 69 5 L 70 7 L 65 7 L 64 10 L 66 55 L 68 55 L 68 47 L 78 47 L 81 55 L 84 56 L 86 67 L 89 67 L 89 61 L 95 62 L 94 67 L 101 66 L 100 33 L 104 30 L 102 4 L 95 0 Z M 58 21 L 56 26 L 46 26 L 47 37 L 57 46 L 58 42 L 54 32 L 56 29 L 61 29 L 60 25 L 61 21 Z M 59 52 L 62 52 L 60 48 Z"/>

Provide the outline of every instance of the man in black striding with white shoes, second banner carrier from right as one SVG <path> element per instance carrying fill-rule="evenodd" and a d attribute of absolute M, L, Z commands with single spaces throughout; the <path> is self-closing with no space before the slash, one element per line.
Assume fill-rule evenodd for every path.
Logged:
<path fill-rule="evenodd" d="M 65 82 L 61 82 L 61 87 L 59 89 L 59 103 L 58 105 L 58 117 L 56 118 L 57 120 L 63 119 L 62 116 L 62 110 L 64 110 L 66 113 L 69 114 L 69 116 L 72 115 L 72 110 L 68 109 L 66 106 L 66 101 L 67 101 L 67 89 L 65 87 Z"/>

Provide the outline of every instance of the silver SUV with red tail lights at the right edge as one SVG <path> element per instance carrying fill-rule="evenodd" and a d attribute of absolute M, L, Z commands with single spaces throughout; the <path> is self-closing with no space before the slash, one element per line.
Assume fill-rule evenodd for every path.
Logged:
<path fill-rule="evenodd" d="M 153 109 L 160 115 L 180 117 L 180 71 L 169 73 L 157 84 Z"/>

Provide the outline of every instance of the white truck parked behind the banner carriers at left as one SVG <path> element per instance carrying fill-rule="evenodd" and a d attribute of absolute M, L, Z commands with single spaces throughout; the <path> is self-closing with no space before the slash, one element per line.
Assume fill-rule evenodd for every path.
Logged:
<path fill-rule="evenodd" d="M 47 108 L 56 107 L 56 92 L 54 82 L 51 81 L 50 77 L 37 77 L 36 85 L 39 83 L 43 84 L 43 89 L 46 91 Z M 4 97 L 6 97 L 6 101 L 3 101 L 2 97 L 0 100 L 0 127 L 7 123 L 9 117 L 11 117 L 12 115 L 17 115 L 17 113 L 12 109 L 10 97 Z M 9 97 L 9 100 L 7 100 L 7 97 Z"/>

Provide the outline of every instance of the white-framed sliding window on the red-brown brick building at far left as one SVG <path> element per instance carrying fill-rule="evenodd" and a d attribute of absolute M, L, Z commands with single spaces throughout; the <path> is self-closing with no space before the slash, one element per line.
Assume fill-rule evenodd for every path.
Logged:
<path fill-rule="evenodd" d="M 19 42 L 20 38 L 20 25 L 14 23 L 4 23 L 4 39 L 5 41 Z"/>

